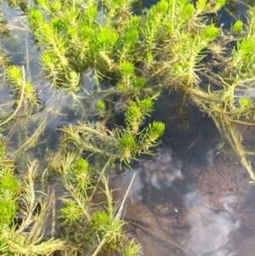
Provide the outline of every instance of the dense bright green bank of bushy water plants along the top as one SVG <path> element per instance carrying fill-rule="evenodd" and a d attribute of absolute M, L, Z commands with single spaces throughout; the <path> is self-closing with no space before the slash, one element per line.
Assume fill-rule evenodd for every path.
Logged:
<path fill-rule="evenodd" d="M 188 76 L 189 82 L 196 81 L 201 50 L 219 33 L 217 27 L 205 26 L 201 15 L 217 12 L 224 1 L 209 6 L 200 0 L 196 9 L 186 0 L 160 1 L 141 17 L 132 14 L 133 1 L 86 4 L 84 8 L 78 1 L 37 1 L 37 6 L 29 9 L 28 20 L 42 49 L 42 69 L 53 86 L 65 81 L 66 72 L 86 71 L 88 67 L 97 82 L 119 72 L 122 78 L 118 88 L 128 93 L 132 85 L 129 80 L 135 78 L 135 65 L 139 63 L 152 76 L 156 70 L 161 74 L 173 66 L 180 79 Z M 109 9 L 112 5 L 116 7 Z M 197 28 L 196 34 L 191 28 Z M 158 61 L 163 55 L 167 58 Z M 136 94 L 144 82 L 138 77 L 133 87 Z"/>

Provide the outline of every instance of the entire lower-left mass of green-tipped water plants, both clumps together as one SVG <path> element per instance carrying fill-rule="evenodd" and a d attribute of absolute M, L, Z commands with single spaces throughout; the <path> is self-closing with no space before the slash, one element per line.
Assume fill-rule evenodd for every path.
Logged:
<path fill-rule="evenodd" d="M 113 202 L 112 191 L 108 187 L 104 173 L 109 162 L 98 173 L 86 160 L 75 159 L 75 155 L 63 156 L 59 165 L 55 165 L 65 188 L 65 195 L 60 198 L 54 197 L 54 188 L 48 187 L 46 180 L 42 179 L 41 191 L 36 190 L 37 161 L 27 165 L 22 180 L 14 175 L 14 169 L 1 168 L 1 254 L 54 255 L 58 252 L 77 255 L 83 252 L 96 255 L 102 249 L 122 250 L 127 252 L 125 255 L 139 253 L 139 244 L 129 241 L 122 229 L 126 224 L 120 219 L 125 198 L 119 208 L 119 203 Z M 48 171 L 46 168 L 44 177 Z M 101 183 L 103 186 L 100 185 L 99 191 Z M 50 193 L 47 195 L 44 190 L 50 190 Z M 94 196 L 101 191 L 105 193 L 105 207 L 93 202 Z M 58 219 L 55 219 L 59 200 L 63 206 L 59 209 Z M 103 202 L 100 205 L 104 206 Z M 62 231 L 57 239 L 54 227 L 58 223 Z"/>

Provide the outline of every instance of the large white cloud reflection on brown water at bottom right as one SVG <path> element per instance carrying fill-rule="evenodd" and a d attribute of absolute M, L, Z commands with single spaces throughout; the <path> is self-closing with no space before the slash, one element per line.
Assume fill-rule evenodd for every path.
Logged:
<path fill-rule="evenodd" d="M 224 202 L 226 200 L 226 202 Z M 229 198 L 222 198 L 224 205 L 228 205 Z M 238 221 L 233 221 L 210 208 L 207 198 L 199 191 L 190 192 L 184 196 L 184 207 L 188 210 L 187 224 L 190 230 L 185 238 L 185 251 L 195 255 L 230 256 L 224 248 L 229 242 L 231 231 L 240 227 Z M 226 207 L 228 210 L 228 207 Z"/>

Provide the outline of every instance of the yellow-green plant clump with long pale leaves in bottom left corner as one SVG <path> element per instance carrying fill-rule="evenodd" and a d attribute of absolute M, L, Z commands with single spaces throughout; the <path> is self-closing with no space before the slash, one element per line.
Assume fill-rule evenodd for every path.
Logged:
<path fill-rule="evenodd" d="M 31 162 L 26 182 L 14 176 L 14 170 L 0 170 L 0 230 L 2 255 L 48 255 L 64 250 L 67 243 L 54 237 L 45 240 L 48 199 L 35 191 L 37 162 Z"/>

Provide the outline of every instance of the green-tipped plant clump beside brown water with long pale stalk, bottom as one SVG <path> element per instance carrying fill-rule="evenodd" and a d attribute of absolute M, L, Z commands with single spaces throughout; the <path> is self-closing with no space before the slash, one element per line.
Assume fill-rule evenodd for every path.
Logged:
<path fill-rule="evenodd" d="M 58 169 L 61 172 L 61 181 L 68 191 L 62 197 L 64 207 L 60 209 L 59 219 L 64 237 L 68 237 L 73 245 L 72 250 L 88 251 L 90 255 L 96 255 L 102 248 L 139 253 L 139 244 L 134 242 L 130 244 L 122 229 L 126 224 L 120 219 L 123 202 L 121 207 L 117 208 L 118 203 L 112 200 L 112 191 L 108 187 L 108 179 L 104 174 L 109 162 L 100 173 L 97 173 L 84 159 L 80 158 L 72 163 L 66 162 L 67 159 L 73 160 L 75 156 L 67 156 Z M 66 172 L 70 167 L 71 171 Z M 99 183 L 102 183 L 103 187 L 100 191 L 96 191 L 99 190 Z M 94 196 L 100 192 L 105 194 L 105 207 L 99 207 L 93 202 Z"/>

